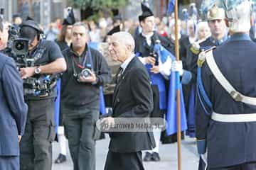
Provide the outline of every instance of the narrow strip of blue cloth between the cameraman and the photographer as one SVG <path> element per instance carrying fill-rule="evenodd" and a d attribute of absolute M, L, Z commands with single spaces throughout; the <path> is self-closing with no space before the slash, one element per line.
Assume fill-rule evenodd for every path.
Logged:
<path fill-rule="evenodd" d="M 55 98 L 55 113 L 54 113 L 54 120 L 55 120 L 55 132 L 58 130 L 58 125 L 60 125 L 60 85 L 61 79 L 58 79 L 57 86 L 55 87 L 57 90 L 57 97 Z"/>

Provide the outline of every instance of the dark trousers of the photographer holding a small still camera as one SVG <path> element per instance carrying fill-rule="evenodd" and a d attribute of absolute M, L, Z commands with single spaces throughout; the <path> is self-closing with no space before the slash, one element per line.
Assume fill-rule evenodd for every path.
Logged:
<path fill-rule="evenodd" d="M 63 109 L 65 135 L 73 160 L 73 170 L 95 170 L 95 123 L 99 110 Z"/>

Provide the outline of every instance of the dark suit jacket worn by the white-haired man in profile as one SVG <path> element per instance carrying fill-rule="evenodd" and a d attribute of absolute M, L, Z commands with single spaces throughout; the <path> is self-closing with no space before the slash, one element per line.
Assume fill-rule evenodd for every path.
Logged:
<path fill-rule="evenodd" d="M 114 89 L 114 118 L 147 118 L 153 110 L 149 75 L 144 64 L 134 57 Z M 111 132 L 110 151 L 138 152 L 154 148 L 152 132 Z"/>

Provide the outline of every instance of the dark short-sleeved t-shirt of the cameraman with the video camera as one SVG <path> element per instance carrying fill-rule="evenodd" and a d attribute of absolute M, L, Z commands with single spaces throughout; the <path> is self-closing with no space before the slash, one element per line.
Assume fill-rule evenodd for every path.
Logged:
<path fill-rule="evenodd" d="M 58 45 L 55 42 L 49 41 L 49 40 L 41 40 L 38 47 L 36 47 L 36 49 L 33 50 L 30 55 L 34 55 L 34 53 L 38 52 L 38 49 L 41 47 L 45 48 L 45 50 L 43 52 L 43 56 L 40 59 L 36 60 L 35 66 L 46 65 L 51 62 L 54 62 L 58 58 L 63 58 L 63 55 L 60 51 L 60 47 L 58 47 Z M 55 96 L 56 96 L 56 91 L 54 89 L 50 92 L 49 96 L 47 97 L 26 95 L 25 99 L 26 100 L 42 100 L 47 98 L 55 98 Z"/>

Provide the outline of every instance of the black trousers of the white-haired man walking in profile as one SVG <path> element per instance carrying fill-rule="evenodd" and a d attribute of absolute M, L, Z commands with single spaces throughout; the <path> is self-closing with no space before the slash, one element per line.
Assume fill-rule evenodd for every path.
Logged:
<path fill-rule="evenodd" d="M 117 153 L 109 151 L 104 170 L 144 170 L 142 152 Z"/>

